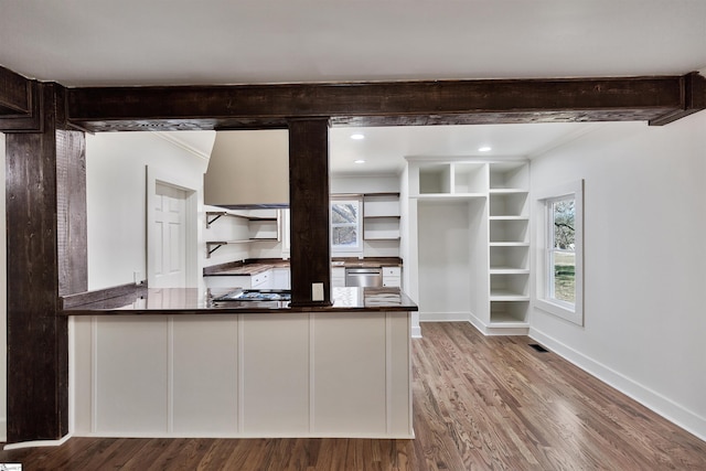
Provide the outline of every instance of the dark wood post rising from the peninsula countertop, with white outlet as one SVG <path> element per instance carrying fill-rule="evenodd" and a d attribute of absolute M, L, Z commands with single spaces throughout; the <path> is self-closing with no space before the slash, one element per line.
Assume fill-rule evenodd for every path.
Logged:
<path fill-rule="evenodd" d="M 291 303 L 331 306 L 328 118 L 289 122 L 289 207 Z"/>

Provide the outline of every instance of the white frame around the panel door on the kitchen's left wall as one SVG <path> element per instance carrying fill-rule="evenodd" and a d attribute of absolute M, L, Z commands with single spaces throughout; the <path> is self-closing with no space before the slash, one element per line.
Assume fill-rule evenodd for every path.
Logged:
<path fill-rule="evenodd" d="M 152 231 L 154 231 L 154 205 L 157 199 L 157 184 L 173 186 L 178 190 L 186 192 L 185 199 L 185 264 L 186 287 L 197 288 L 200 282 L 199 274 L 199 189 L 194 181 L 169 172 L 154 165 L 146 165 L 147 170 L 147 197 L 146 197 L 146 215 L 147 215 L 147 240 L 145 244 L 145 266 L 147 267 L 147 286 L 149 287 L 154 280 L 154 266 L 150 254 L 152 247 Z"/>

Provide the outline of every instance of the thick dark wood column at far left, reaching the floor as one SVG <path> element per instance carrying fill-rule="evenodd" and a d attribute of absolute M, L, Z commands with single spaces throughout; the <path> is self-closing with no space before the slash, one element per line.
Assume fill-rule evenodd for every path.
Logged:
<path fill-rule="evenodd" d="M 64 127 L 65 90 L 36 84 L 41 130 L 6 139 L 8 441 L 68 433 L 67 318 L 58 296 L 87 289 L 83 132 Z"/>

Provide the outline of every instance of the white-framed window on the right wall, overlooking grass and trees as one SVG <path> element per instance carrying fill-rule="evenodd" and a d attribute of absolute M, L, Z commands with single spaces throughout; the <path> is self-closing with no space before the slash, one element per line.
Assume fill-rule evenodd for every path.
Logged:
<path fill-rule="evenodd" d="M 584 181 L 541 192 L 535 306 L 584 324 Z"/>

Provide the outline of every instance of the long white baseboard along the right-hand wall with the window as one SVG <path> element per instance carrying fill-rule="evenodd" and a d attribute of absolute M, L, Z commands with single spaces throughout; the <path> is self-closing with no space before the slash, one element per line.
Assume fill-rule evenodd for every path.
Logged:
<path fill-rule="evenodd" d="M 625 396 L 637 400 L 646 408 L 661 415 L 684 430 L 706 441 L 706 418 L 684 408 L 667 397 L 622 375 L 621 373 L 589 358 L 570 346 L 531 328 L 530 338 L 536 340 L 554 353 L 575 364 L 579 368 L 596 376 L 603 383 L 614 387 Z"/>

